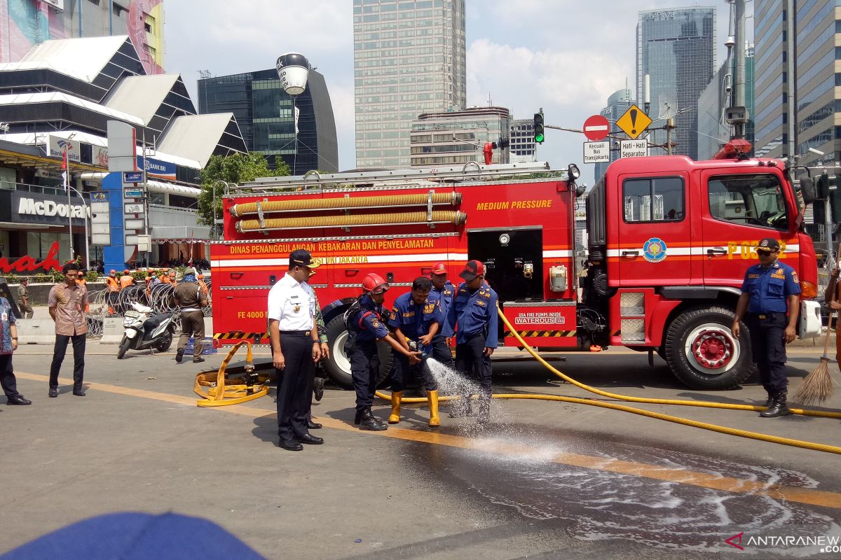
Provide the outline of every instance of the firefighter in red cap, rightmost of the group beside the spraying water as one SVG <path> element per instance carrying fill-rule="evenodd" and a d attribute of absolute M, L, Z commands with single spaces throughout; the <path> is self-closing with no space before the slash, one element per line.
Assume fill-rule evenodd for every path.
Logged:
<path fill-rule="evenodd" d="M 465 281 L 458 285 L 447 322 L 456 327 L 456 369 L 479 382 L 479 423 L 490 420 L 490 355 L 497 347 L 496 292 L 484 281 L 484 264 L 468 260 L 459 275 Z M 450 416 L 472 416 L 469 390 Z"/>

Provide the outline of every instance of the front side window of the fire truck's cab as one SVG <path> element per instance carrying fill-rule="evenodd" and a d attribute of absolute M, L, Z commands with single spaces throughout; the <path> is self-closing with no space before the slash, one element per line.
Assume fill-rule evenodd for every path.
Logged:
<path fill-rule="evenodd" d="M 776 175 L 717 175 L 708 183 L 712 217 L 788 231 L 785 196 Z"/>

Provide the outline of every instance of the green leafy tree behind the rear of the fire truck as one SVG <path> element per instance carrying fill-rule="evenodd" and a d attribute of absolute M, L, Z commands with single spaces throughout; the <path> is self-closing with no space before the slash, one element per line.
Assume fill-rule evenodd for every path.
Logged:
<path fill-rule="evenodd" d="M 289 166 L 280 157 L 276 158 L 276 161 L 278 168 L 272 171 L 268 168 L 266 156 L 258 152 L 211 156 L 208 165 L 205 165 L 201 172 L 202 191 L 198 195 L 198 223 L 214 225 L 214 190 L 216 191 L 216 217 L 222 217 L 225 185 L 219 181 L 240 184 L 260 177 L 289 175 Z"/>

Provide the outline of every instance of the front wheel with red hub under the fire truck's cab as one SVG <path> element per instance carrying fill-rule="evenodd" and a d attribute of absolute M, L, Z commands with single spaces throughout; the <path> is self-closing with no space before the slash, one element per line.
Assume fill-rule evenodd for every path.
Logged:
<path fill-rule="evenodd" d="M 732 310 L 721 306 L 692 307 L 666 329 L 666 362 L 686 386 L 733 389 L 754 374 L 748 327 L 733 339 L 733 317 Z"/>

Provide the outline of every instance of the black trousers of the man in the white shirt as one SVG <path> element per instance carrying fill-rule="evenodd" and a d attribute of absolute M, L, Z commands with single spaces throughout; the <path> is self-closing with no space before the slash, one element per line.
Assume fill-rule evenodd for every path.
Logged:
<path fill-rule="evenodd" d="M 278 381 L 278 436 L 289 440 L 309 433 L 307 414 L 312 403 L 313 341 L 309 336 L 280 333 L 280 350 L 286 360 Z"/>

